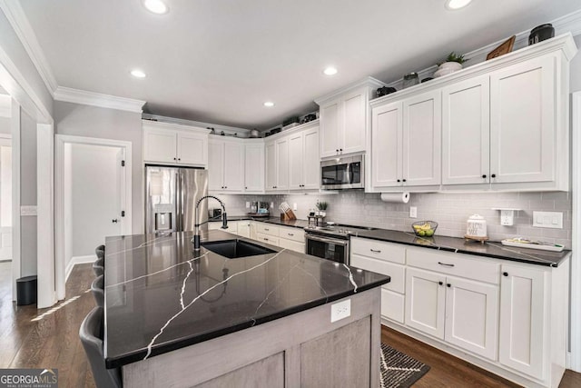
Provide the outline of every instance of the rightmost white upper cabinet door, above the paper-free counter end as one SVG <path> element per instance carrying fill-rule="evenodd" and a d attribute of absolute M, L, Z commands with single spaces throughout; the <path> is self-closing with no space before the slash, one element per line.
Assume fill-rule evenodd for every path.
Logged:
<path fill-rule="evenodd" d="M 493 184 L 555 180 L 555 62 L 548 55 L 490 75 Z"/>

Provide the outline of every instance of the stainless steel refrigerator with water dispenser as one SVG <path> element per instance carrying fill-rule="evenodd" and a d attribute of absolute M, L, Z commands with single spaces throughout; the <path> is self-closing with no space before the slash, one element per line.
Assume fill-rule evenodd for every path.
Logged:
<path fill-rule="evenodd" d="M 145 233 L 194 229 L 194 208 L 208 194 L 208 171 L 199 168 L 145 166 Z M 198 221 L 208 220 L 208 203 L 198 208 Z M 202 229 L 207 229 L 207 224 Z"/>

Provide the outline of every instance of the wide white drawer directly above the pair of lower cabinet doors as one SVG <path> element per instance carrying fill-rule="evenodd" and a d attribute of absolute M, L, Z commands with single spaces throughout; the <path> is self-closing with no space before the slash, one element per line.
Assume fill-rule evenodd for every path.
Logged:
<path fill-rule="evenodd" d="M 453 274 L 468 279 L 491 284 L 499 283 L 500 265 L 487 262 L 487 259 L 472 259 L 465 254 L 441 254 L 428 249 L 408 249 L 408 264 L 436 271 Z"/>

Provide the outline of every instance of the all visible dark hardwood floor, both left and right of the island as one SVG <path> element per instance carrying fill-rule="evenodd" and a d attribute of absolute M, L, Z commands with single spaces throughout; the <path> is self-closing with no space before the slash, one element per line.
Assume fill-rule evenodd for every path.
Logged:
<path fill-rule="evenodd" d="M 0 263 L 0 368 L 57 368 L 60 387 L 93 388 L 93 374 L 78 335 L 84 316 L 94 307 L 93 295 L 86 292 L 93 279 L 91 264 L 75 265 L 65 301 L 55 309 L 37 310 L 34 305 L 12 303 L 10 264 Z M 33 321 L 39 315 L 43 317 Z M 386 327 L 381 340 L 431 366 L 416 387 L 515 386 Z M 559 387 L 581 387 L 581 373 L 567 371 Z"/>

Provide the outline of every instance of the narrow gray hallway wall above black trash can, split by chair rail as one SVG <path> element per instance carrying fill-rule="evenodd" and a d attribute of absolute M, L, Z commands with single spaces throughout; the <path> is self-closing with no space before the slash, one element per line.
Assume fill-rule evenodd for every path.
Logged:
<path fill-rule="evenodd" d="M 21 113 L 20 201 L 21 205 L 36 204 L 36 121 Z M 36 273 L 36 216 L 21 217 L 21 276 Z"/>

